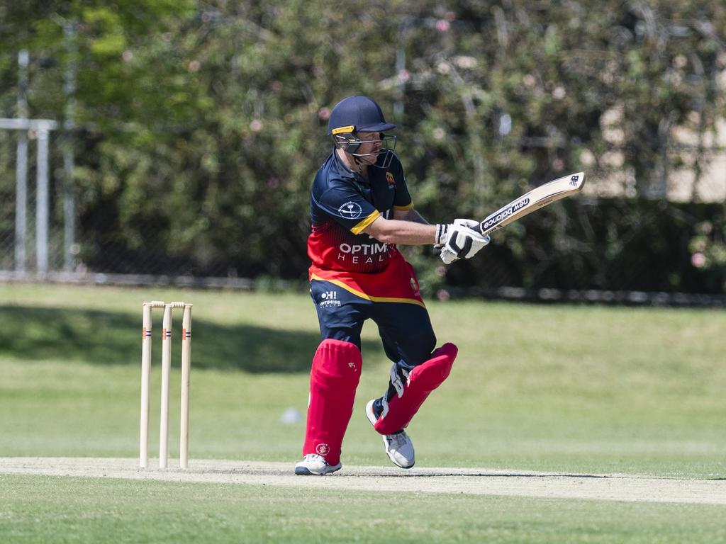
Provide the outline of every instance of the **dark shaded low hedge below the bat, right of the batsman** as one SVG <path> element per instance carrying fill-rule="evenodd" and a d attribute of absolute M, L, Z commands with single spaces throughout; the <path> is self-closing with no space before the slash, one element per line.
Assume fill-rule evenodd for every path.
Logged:
<path fill-rule="evenodd" d="M 722 216 L 718 204 L 557 202 L 498 232 L 481 260 L 449 269 L 448 283 L 720 294 L 726 289 Z"/>

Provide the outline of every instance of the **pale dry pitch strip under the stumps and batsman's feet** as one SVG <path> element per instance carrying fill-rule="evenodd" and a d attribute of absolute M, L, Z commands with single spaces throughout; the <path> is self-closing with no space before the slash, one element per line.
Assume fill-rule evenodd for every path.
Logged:
<path fill-rule="evenodd" d="M 653 503 L 726 504 L 726 479 L 416 466 L 343 466 L 325 477 L 295 476 L 294 462 L 192 459 L 189 469 L 139 469 L 135 458 L 0 458 L 0 474 L 275 485 L 354 491 L 456 493 Z M 173 464 L 173 461 L 170 461 Z M 152 465 L 153 466 L 153 465 Z"/>

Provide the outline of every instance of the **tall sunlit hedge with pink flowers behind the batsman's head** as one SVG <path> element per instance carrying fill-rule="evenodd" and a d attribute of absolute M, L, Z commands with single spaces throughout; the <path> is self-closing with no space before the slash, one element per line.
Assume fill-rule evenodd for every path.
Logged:
<path fill-rule="evenodd" d="M 327 115 L 349 94 L 398 123 L 430 221 L 481 217 L 586 154 L 605 178 L 613 149 L 637 194 L 658 196 L 680 161 L 666 157 L 669 128 L 709 135 L 726 107 L 719 2 L 0 0 L 0 14 L 4 115 L 18 49 L 34 59 L 34 117 L 64 118 L 76 63 L 81 257 L 96 270 L 119 271 L 101 251 L 113 247 L 124 262 L 178 259 L 178 273 L 304 277 L 307 192 Z M 512 255 L 523 232 L 507 232 Z M 419 260 L 428 284 L 452 279 Z"/>

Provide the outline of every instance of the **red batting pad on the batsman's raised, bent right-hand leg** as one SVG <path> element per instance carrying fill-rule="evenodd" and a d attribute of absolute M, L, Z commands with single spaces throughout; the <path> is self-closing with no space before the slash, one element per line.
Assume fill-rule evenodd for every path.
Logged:
<path fill-rule="evenodd" d="M 393 434 L 407 426 L 426 397 L 449 376 L 457 353 L 455 345 L 444 344 L 431 354 L 431 359 L 415 366 L 404 386 L 404 395 L 393 395 L 388 400 L 388 413 L 375 422 L 375 430 Z"/>

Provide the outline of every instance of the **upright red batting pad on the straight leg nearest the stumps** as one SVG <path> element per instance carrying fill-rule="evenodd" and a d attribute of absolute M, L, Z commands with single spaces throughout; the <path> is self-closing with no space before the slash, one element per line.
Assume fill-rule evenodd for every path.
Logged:
<path fill-rule="evenodd" d="M 317 453 L 331 465 L 340 461 L 362 366 L 361 352 L 351 342 L 325 339 L 318 346 L 310 371 L 303 456 Z"/>

